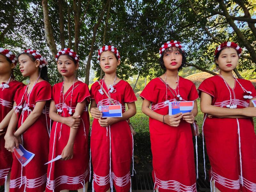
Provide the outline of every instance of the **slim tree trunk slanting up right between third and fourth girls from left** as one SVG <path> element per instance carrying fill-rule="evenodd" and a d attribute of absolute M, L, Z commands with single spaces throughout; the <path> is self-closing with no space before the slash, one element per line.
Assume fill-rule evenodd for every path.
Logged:
<path fill-rule="evenodd" d="M 106 7 L 109 3 L 109 0 L 106 2 L 106 4 L 104 6 L 102 6 L 102 10 L 101 10 L 101 13 L 100 13 L 100 17 L 97 21 L 97 23 L 94 25 L 93 27 L 93 34 L 92 34 L 92 43 L 91 43 L 91 50 L 89 52 L 89 55 L 88 55 L 88 59 L 87 59 L 87 62 L 86 62 L 86 69 L 85 69 L 85 83 L 86 84 L 89 84 L 89 76 L 90 76 L 90 68 L 91 68 L 91 60 L 92 60 L 92 52 L 94 50 L 94 43 L 95 43 L 95 39 L 96 39 L 96 33 L 97 33 L 97 29 L 100 25 L 100 22 L 104 16 L 104 11 L 106 10 Z"/>

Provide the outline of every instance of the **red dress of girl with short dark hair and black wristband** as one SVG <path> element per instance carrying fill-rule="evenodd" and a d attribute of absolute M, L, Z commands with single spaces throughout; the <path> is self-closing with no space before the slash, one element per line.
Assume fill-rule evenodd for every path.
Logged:
<path fill-rule="evenodd" d="M 162 80 L 152 79 L 140 97 L 151 102 L 151 110 L 168 115 L 168 102 L 177 101 Z M 195 85 L 188 79 L 179 77 L 179 85 L 172 89 L 182 100 L 194 101 L 198 98 Z M 149 118 L 149 132 L 153 155 L 154 189 L 162 191 L 196 191 L 194 146 L 190 124 L 181 120 L 178 127 L 172 127 L 156 119 Z"/>

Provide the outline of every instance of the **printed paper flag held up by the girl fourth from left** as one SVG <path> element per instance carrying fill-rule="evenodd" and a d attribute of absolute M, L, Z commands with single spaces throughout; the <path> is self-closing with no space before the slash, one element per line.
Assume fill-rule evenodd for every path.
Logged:
<path fill-rule="evenodd" d="M 102 117 L 122 117 L 121 105 L 102 105 L 99 107 Z"/>

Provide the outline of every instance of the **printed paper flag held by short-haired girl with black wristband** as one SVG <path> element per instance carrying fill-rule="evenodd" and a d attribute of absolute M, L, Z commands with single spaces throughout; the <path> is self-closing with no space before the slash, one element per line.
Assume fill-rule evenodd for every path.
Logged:
<path fill-rule="evenodd" d="M 194 101 L 169 102 L 169 115 L 191 112 L 194 108 Z"/>

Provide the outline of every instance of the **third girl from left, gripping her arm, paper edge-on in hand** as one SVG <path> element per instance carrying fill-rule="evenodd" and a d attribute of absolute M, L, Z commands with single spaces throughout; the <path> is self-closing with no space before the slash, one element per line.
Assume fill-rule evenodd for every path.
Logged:
<path fill-rule="evenodd" d="M 79 57 L 65 48 L 56 55 L 57 67 L 64 81 L 52 88 L 50 117 L 53 120 L 49 161 L 58 155 L 62 159 L 48 164 L 46 191 L 86 191 L 90 165 L 87 84 L 76 79 Z"/>

